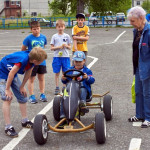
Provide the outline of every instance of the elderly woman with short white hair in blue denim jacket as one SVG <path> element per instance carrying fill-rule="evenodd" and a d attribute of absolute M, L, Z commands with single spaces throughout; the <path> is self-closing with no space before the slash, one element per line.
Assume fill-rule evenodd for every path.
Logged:
<path fill-rule="evenodd" d="M 128 121 L 143 121 L 142 128 L 150 126 L 150 25 L 145 15 L 145 10 L 139 6 L 131 8 L 127 15 L 134 27 L 132 47 L 136 93 L 136 115 Z"/>

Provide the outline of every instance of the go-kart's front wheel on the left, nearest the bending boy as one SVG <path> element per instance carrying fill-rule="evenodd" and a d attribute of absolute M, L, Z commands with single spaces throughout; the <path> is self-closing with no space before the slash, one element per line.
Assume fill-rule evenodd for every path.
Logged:
<path fill-rule="evenodd" d="M 45 115 L 37 115 L 33 124 L 34 140 L 37 144 L 43 145 L 47 142 L 48 138 L 48 122 Z"/>

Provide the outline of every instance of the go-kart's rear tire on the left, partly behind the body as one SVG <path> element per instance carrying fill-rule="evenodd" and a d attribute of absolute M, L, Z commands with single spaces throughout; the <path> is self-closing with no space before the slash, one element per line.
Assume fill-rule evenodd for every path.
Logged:
<path fill-rule="evenodd" d="M 53 101 L 53 116 L 56 121 L 60 121 L 60 102 L 62 99 L 61 96 L 55 96 Z"/>

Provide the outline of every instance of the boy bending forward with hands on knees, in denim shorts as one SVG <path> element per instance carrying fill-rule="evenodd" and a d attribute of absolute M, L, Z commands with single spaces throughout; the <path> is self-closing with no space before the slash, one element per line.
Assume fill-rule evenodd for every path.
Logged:
<path fill-rule="evenodd" d="M 0 61 L 0 95 L 3 100 L 2 111 L 5 119 L 5 133 L 10 137 L 17 137 L 18 133 L 11 125 L 10 104 L 13 94 L 17 98 L 22 115 L 22 127 L 32 128 L 33 123 L 28 120 L 26 112 L 27 93 L 24 88 L 29 79 L 33 66 L 39 65 L 47 58 L 46 52 L 42 48 L 34 48 L 29 52 L 20 51 L 9 54 Z M 21 83 L 17 74 L 24 74 Z"/>

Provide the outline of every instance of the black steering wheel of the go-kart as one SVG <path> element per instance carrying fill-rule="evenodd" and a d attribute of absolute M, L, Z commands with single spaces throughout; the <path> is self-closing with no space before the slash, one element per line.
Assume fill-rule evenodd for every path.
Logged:
<path fill-rule="evenodd" d="M 73 72 L 73 71 L 78 72 L 78 74 L 67 74 L 67 73 Z M 68 78 L 71 78 L 71 79 L 75 78 L 76 81 L 78 81 L 77 78 L 80 77 L 80 76 L 82 76 L 82 79 L 79 82 L 82 82 L 84 80 L 83 79 L 83 76 L 84 76 L 83 71 L 77 70 L 77 69 L 69 69 L 69 70 L 64 72 L 64 77 L 68 77 Z"/>

